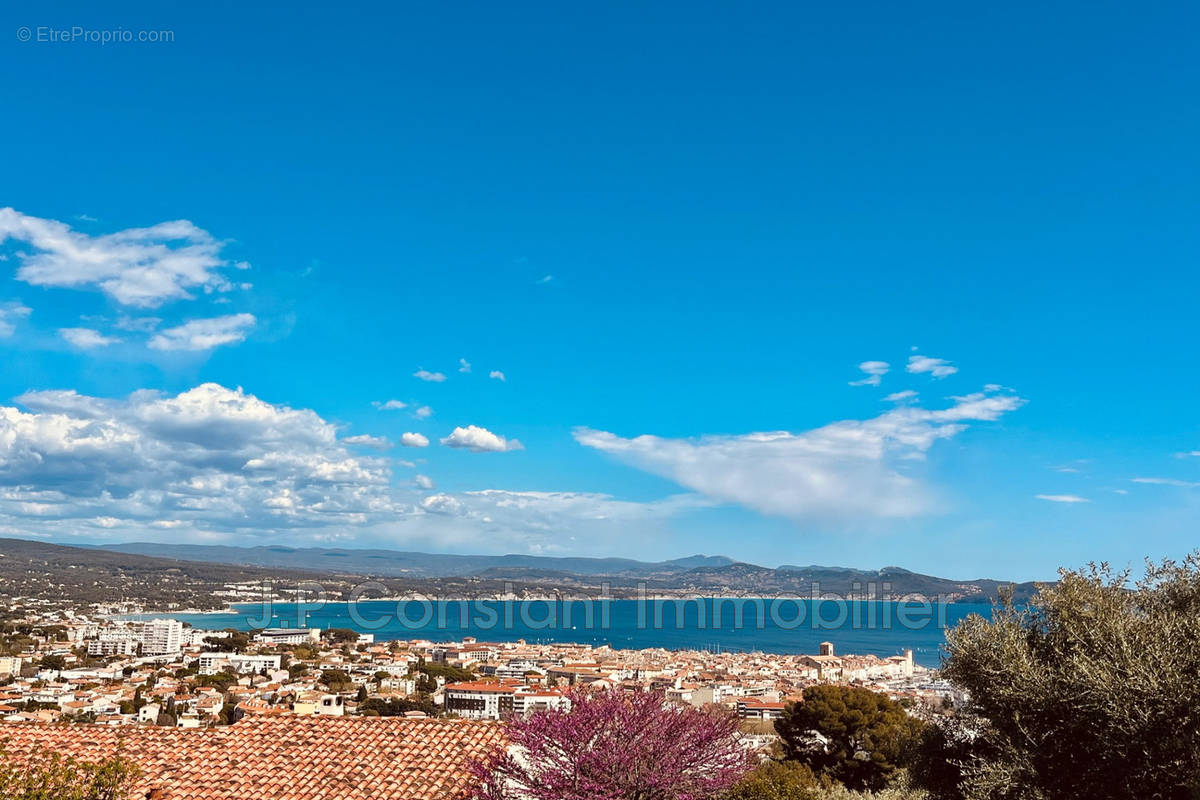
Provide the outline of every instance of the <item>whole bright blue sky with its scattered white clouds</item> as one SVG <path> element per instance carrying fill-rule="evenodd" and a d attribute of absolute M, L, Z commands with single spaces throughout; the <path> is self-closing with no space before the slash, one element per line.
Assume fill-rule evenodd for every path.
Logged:
<path fill-rule="evenodd" d="M 2 14 L 0 534 L 1196 545 L 1193 5 Z"/>

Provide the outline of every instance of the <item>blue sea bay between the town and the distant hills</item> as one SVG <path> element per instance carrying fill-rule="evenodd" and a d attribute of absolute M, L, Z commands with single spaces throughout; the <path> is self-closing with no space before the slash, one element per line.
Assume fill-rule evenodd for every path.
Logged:
<path fill-rule="evenodd" d="M 912 649 L 937 667 L 946 628 L 988 603 L 923 603 L 796 599 L 595 601 L 384 601 L 246 603 L 234 613 L 149 614 L 198 628 L 348 627 L 390 639 L 577 642 L 619 649 L 817 652 L 892 656 Z"/>

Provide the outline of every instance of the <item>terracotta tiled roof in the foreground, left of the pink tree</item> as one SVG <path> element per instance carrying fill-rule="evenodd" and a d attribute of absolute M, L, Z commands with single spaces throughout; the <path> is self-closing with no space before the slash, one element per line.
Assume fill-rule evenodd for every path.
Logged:
<path fill-rule="evenodd" d="M 142 770 L 138 800 L 446 800 L 464 795 L 467 763 L 503 740 L 494 723 L 395 717 L 247 716 L 194 730 L 0 726 L 10 758 L 120 751 Z"/>

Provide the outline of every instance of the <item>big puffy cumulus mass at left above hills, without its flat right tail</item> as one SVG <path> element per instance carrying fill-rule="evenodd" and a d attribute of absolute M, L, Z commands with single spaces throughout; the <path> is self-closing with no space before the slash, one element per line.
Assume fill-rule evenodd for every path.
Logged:
<path fill-rule="evenodd" d="M 262 533 L 362 524 L 397 507 L 385 462 L 350 455 L 316 413 L 240 389 L 17 402 L 26 410 L 0 407 L 0 521 Z"/>

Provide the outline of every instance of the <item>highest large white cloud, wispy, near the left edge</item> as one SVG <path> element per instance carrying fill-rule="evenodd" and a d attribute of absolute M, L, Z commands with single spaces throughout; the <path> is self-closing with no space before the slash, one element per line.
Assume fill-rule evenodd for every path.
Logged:
<path fill-rule="evenodd" d="M 192 297 L 193 290 L 228 291 L 220 270 L 222 242 L 186 219 L 89 236 L 55 219 L 0 209 L 0 243 L 12 239 L 34 252 L 18 253 L 17 278 L 38 287 L 96 289 L 124 306 L 155 307 Z"/>

